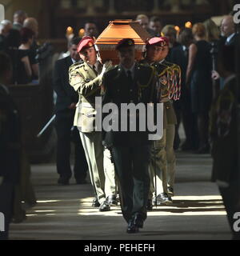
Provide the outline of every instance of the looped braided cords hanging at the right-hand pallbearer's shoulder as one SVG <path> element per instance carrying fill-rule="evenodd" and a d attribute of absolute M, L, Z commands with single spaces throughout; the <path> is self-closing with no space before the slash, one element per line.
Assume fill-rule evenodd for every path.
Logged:
<path fill-rule="evenodd" d="M 169 99 L 177 101 L 181 96 L 181 68 L 176 64 L 169 64 L 170 66 L 162 64 L 166 66 L 166 69 L 159 74 L 160 82 L 162 86 L 164 86 L 162 98 L 168 97 Z"/>

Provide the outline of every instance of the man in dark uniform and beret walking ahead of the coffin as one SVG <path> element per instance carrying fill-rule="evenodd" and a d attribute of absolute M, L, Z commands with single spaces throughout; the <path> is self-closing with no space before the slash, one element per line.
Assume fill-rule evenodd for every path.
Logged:
<path fill-rule="evenodd" d="M 126 131 L 111 132 L 107 144 L 111 146 L 115 171 L 120 184 L 121 208 L 128 223 L 127 233 L 137 233 L 146 219 L 146 203 L 150 188 L 148 166 L 150 145 L 147 131 L 139 131 L 141 115 L 137 112 L 136 131 L 130 131 L 130 114 L 120 118 L 122 103 L 146 106 L 154 102 L 156 95 L 155 71 L 150 66 L 142 66 L 134 61 L 134 40 L 124 38 L 116 47 L 120 64 L 108 71 L 103 78 L 105 95 L 103 106 L 113 102 L 118 106 L 118 125 L 127 119 Z M 119 128 L 119 127 L 118 127 Z M 109 133 L 106 133 L 109 134 Z"/>

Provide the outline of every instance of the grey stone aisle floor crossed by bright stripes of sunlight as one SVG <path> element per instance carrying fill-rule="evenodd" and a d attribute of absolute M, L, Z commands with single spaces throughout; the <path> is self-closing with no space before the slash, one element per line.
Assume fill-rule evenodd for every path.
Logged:
<path fill-rule="evenodd" d="M 32 166 L 38 203 L 26 221 L 10 225 L 13 240 L 225 240 L 230 239 L 226 211 L 218 187 L 210 182 L 207 154 L 177 152 L 172 206 L 148 213 L 138 234 L 126 234 L 120 207 L 99 212 L 91 202 L 90 184 L 58 186 L 54 163 Z"/>

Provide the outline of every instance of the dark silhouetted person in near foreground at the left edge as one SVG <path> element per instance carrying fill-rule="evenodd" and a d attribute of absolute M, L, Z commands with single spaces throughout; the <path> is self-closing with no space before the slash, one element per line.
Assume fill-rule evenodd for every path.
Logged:
<path fill-rule="evenodd" d="M 9 90 L 4 85 L 11 79 L 10 63 L 10 58 L 0 53 L 0 213 L 5 217 L 4 230 L 0 230 L 0 240 L 8 238 L 14 210 L 14 188 L 20 175 L 20 119 Z"/>

